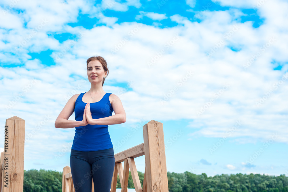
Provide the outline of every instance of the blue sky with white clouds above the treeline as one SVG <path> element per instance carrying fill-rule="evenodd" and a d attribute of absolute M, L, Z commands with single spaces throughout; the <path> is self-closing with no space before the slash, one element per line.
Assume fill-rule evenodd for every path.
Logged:
<path fill-rule="evenodd" d="M 126 111 L 108 128 L 115 154 L 155 120 L 169 172 L 288 175 L 287 10 L 285 0 L 3 0 L 1 125 L 25 120 L 24 170 L 62 171 L 75 128 L 54 122 L 90 89 L 86 60 L 100 55 L 103 89 Z M 144 156 L 135 162 L 144 172 Z"/>

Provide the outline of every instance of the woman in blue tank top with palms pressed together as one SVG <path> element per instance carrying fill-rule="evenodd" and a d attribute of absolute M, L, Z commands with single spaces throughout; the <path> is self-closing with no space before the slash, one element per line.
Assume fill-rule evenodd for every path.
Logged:
<path fill-rule="evenodd" d="M 87 59 L 88 92 L 73 95 L 55 121 L 57 128 L 75 127 L 70 167 L 76 192 L 109 192 L 115 165 L 108 125 L 126 121 L 120 99 L 105 93 L 103 84 L 109 70 L 103 57 Z M 115 115 L 112 115 L 114 111 Z M 75 121 L 68 118 L 75 112 Z"/>

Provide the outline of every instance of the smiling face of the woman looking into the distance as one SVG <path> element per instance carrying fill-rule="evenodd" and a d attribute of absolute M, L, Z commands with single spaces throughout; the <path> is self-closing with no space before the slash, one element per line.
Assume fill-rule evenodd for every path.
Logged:
<path fill-rule="evenodd" d="M 103 78 L 106 77 L 107 71 L 104 71 L 104 68 L 100 61 L 94 60 L 90 61 L 87 65 L 87 76 L 90 83 L 98 83 L 102 81 Z"/>

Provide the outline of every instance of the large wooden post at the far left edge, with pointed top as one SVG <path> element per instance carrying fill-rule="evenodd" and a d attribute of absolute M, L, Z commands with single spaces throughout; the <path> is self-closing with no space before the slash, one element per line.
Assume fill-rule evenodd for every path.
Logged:
<path fill-rule="evenodd" d="M 23 191 L 25 120 L 7 119 L 4 134 L 2 191 Z"/>

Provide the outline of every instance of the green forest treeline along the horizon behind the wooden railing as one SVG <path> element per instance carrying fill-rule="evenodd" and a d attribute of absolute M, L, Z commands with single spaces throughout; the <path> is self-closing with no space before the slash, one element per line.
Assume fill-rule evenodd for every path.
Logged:
<path fill-rule="evenodd" d="M 138 172 L 141 184 L 144 173 Z M 167 172 L 169 192 L 288 192 L 288 177 L 260 174 L 222 174 L 207 177 L 205 173 Z M 24 170 L 24 192 L 61 192 L 62 172 L 45 169 Z M 117 188 L 121 188 L 118 176 Z M 128 188 L 134 188 L 129 172 Z"/>

